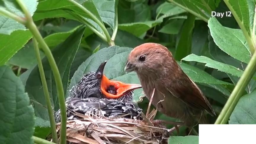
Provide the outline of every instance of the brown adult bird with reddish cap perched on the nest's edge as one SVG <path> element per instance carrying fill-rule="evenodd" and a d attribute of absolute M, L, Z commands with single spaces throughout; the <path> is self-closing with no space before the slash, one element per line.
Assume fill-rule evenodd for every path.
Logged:
<path fill-rule="evenodd" d="M 215 116 L 198 86 L 182 71 L 172 53 L 161 44 L 145 43 L 128 56 L 125 71 L 135 71 L 152 104 L 167 116 L 179 118 L 186 126 L 199 122 L 203 111 Z"/>

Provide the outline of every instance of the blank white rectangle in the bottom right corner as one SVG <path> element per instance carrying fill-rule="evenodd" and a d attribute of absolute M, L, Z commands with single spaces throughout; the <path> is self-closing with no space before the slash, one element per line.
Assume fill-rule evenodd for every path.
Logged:
<path fill-rule="evenodd" d="M 256 124 L 199 124 L 199 144 L 256 144 Z"/>

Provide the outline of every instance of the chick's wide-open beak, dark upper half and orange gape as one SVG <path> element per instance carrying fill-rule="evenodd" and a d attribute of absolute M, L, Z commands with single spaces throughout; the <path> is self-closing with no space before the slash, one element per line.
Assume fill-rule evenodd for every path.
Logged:
<path fill-rule="evenodd" d="M 107 61 L 103 62 L 100 65 L 100 67 L 98 68 L 98 70 L 96 71 L 96 73 L 97 73 L 97 77 L 101 78 L 101 83 L 100 83 L 101 92 L 107 98 L 115 99 L 115 98 L 121 97 L 125 92 L 141 88 L 140 84 L 125 84 L 121 81 L 109 80 L 105 75 L 103 75 L 103 70 L 104 70 L 106 63 L 107 63 Z M 108 88 L 110 86 L 114 87 L 114 89 L 116 91 L 115 95 L 108 93 Z"/>

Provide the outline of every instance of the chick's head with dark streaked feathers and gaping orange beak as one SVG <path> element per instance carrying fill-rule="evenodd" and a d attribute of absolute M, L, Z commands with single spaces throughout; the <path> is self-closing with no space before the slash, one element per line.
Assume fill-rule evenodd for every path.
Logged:
<path fill-rule="evenodd" d="M 86 73 L 71 89 L 71 97 L 98 97 L 130 102 L 133 90 L 141 88 L 141 85 L 109 80 L 103 74 L 106 63 L 107 61 L 101 63 L 96 72 Z"/>

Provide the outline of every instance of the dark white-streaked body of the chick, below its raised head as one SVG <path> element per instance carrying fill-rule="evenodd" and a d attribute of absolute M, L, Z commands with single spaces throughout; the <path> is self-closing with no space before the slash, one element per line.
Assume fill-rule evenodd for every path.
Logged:
<path fill-rule="evenodd" d="M 66 107 L 68 120 L 81 119 L 81 117 L 75 113 L 105 117 L 116 117 L 128 114 L 124 117 L 129 119 L 141 119 L 140 114 L 142 113 L 142 110 L 136 108 L 132 103 L 114 99 L 109 100 L 106 98 L 99 99 L 96 97 L 84 99 L 68 98 L 66 100 Z M 60 122 L 60 111 L 56 113 L 56 121 Z"/>

